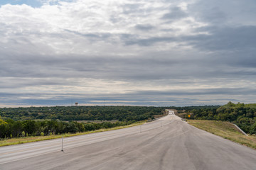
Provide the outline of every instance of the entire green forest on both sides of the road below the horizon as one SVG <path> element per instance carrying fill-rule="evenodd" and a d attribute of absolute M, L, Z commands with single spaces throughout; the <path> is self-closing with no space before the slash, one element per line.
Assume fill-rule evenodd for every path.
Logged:
<path fill-rule="evenodd" d="M 154 120 L 166 109 L 181 117 L 235 123 L 246 133 L 256 134 L 256 104 L 231 103 L 224 106 L 146 107 L 146 106 L 54 106 L 0 108 L 0 138 L 53 135 L 114 128 L 141 120 Z M 78 123 L 78 120 L 85 120 Z M 90 120 L 117 120 L 90 123 Z"/>

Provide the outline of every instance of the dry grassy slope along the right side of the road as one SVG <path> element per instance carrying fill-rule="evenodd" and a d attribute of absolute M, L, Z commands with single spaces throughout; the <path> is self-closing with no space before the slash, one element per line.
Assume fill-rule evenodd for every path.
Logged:
<path fill-rule="evenodd" d="M 232 123 L 216 120 L 188 120 L 188 123 L 196 128 L 206 130 L 207 132 L 213 133 L 214 135 L 218 135 L 227 140 L 256 149 L 256 136 L 242 135 L 242 133 L 235 128 L 235 125 Z"/>

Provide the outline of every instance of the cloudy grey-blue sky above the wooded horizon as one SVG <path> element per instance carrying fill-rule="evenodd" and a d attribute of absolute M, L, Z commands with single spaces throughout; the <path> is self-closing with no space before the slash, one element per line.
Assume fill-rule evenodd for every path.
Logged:
<path fill-rule="evenodd" d="M 255 0 L 0 1 L 0 107 L 256 103 Z"/>

